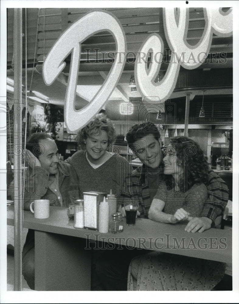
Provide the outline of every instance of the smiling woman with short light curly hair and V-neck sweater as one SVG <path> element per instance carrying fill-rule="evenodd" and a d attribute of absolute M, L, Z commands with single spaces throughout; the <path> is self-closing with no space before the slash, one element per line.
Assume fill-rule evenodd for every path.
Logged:
<path fill-rule="evenodd" d="M 118 167 L 127 168 L 124 157 L 108 152 L 114 143 L 116 131 L 113 123 L 104 114 L 97 114 L 79 131 L 78 143 L 83 150 L 74 153 L 66 161 L 73 165 L 80 191 L 98 191 L 117 195 L 119 187 Z M 123 165 L 121 162 L 126 162 Z M 121 163 L 121 164 L 120 164 Z"/>

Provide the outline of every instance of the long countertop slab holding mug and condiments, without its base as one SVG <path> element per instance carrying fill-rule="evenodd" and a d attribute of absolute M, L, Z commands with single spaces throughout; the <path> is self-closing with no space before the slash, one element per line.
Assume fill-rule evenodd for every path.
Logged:
<path fill-rule="evenodd" d="M 121 240 L 123 245 L 127 243 L 126 245 L 132 247 L 146 247 L 156 251 L 170 251 L 173 254 L 231 262 L 232 231 L 212 228 L 203 233 L 187 233 L 184 230 L 186 223 L 165 224 L 150 219 L 137 218 L 135 226 L 127 226 L 124 222 L 123 233 L 99 233 L 95 230 L 74 228 L 74 221 L 68 220 L 67 208 L 50 206 L 50 217 L 48 219 L 35 219 L 32 212 L 24 211 L 23 227 L 89 240 L 97 239 L 102 242 L 107 242 L 111 238 L 109 241 L 116 244 L 119 244 L 117 237 L 122 237 L 125 238 L 125 240 Z M 7 224 L 14 225 L 13 206 L 8 207 Z M 207 240 L 203 241 L 202 237 Z M 211 239 L 217 240 L 213 246 L 210 244 Z M 144 243 L 143 240 L 145 240 Z M 183 240 L 185 248 L 177 246 L 176 240 L 178 243 Z M 206 250 L 205 246 L 207 247 Z"/>

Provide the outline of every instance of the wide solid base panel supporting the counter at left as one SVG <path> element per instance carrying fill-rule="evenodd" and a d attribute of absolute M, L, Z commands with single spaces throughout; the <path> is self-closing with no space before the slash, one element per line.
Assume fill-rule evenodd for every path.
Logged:
<path fill-rule="evenodd" d="M 86 239 L 35 230 L 35 289 L 89 291 L 91 250 Z"/>

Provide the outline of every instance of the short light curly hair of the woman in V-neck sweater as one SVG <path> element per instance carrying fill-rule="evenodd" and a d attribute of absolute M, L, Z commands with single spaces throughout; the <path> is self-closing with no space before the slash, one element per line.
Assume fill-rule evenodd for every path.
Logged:
<path fill-rule="evenodd" d="M 83 150 L 85 150 L 84 141 L 93 134 L 98 135 L 102 130 L 106 131 L 108 135 L 109 147 L 109 145 L 115 141 L 116 130 L 111 120 L 102 113 L 93 117 L 92 120 L 90 120 L 90 122 L 78 132 L 78 144 L 81 145 Z"/>

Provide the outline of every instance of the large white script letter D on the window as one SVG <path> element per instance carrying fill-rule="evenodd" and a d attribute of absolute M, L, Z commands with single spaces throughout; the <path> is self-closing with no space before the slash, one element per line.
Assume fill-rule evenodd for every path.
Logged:
<path fill-rule="evenodd" d="M 101 31 L 109 31 L 115 39 L 117 52 L 115 62 L 89 105 L 81 110 L 75 110 L 74 101 L 81 56 L 81 42 Z M 63 60 L 68 54 L 72 53 L 64 107 L 64 121 L 68 132 L 76 132 L 85 126 L 107 101 L 122 74 L 125 64 L 125 50 L 126 39 L 120 22 L 112 14 L 104 11 L 88 13 L 74 22 L 58 38 L 44 61 L 42 72 L 46 85 L 51 85 L 65 67 Z"/>

